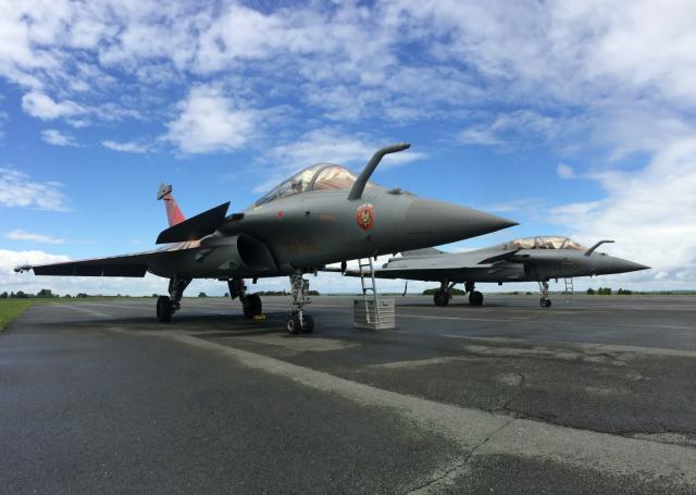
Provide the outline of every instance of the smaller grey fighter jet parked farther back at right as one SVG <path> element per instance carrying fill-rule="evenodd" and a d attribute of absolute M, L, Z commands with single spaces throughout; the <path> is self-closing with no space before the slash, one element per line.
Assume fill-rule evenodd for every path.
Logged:
<path fill-rule="evenodd" d="M 407 279 L 440 283 L 433 299 L 436 306 L 447 306 L 456 284 L 464 284 L 472 306 L 483 304 L 483 294 L 475 289 L 476 282 L 538 282 L 543 308 L 551 306 L 548 282 L 551 279 L 606 275 L 635 272 L 649 267 L 616 258 L 597 248 L 600 240 L 586 248 L 569 237 L 526 237 L 467 252 L 444 252 L 425 248 L 403 252 L 391 258 L 382 269 L 374 270 L 380 279 Z M 336 271 L 335 269 L 332 271 Z M 356 271 L 347 275 L 359 276 Z"/>

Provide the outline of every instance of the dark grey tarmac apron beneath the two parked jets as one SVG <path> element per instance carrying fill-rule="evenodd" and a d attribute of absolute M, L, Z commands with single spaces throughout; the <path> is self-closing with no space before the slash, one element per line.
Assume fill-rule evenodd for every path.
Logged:
<path fill-rule="evenodd" d="M 40 305 L 0 334 L 2 493 L 696 493 L 696 297 Z"/>

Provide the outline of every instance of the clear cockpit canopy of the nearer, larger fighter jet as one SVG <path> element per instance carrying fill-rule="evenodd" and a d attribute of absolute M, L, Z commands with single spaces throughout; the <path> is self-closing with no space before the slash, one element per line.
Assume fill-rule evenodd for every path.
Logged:
<path fill-rule="evenodd" d="M 350 189 L 358 177 L 344 166 L 333 163 L 318 163 L 299 171 L 293 177 L 275 186 L 259 199 L 254 206 L 261 206 L 275 199 L 287 198 L 309 190 Z M 373 187 L 368 182 L 366 188 Z"/>

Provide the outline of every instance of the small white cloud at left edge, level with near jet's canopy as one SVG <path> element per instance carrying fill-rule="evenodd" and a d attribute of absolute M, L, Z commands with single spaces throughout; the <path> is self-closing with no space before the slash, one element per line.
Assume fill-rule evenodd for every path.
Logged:
<path fill-rule="evenodd" d="M 67 210 L 67 200 L 57 182 L 38 182 L 14 169 L 0 168 L 0 206 Z"/>

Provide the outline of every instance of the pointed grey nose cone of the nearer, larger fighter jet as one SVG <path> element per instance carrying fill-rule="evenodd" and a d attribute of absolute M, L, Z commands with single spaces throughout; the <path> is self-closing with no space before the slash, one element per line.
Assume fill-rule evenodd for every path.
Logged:
<path fill-rule="evenodd" d="M 409 207 L 405 220 L 407 232 L 431 237 L 431 246 L 467 239 L 518 224 L 484 211 L 420 198 Z"/>

